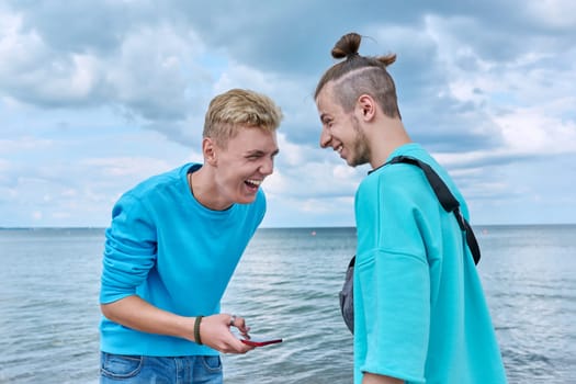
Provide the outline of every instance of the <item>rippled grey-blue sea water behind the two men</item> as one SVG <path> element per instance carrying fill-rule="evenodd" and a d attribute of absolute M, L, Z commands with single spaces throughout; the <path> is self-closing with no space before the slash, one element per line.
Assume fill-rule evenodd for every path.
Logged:
<path fill-rule="evenodd" d="M 575 383 L 576 226 L 475 231 L 509 382 Z M 103 236 L 100 228 L 0 230 L 0 383 L 98 383 Z M 354 247 L 354 228 L 257 231 L 223 312 L 284 342 L 224 355 L 225 383 L 352 382 L 338 291 Z"/>

